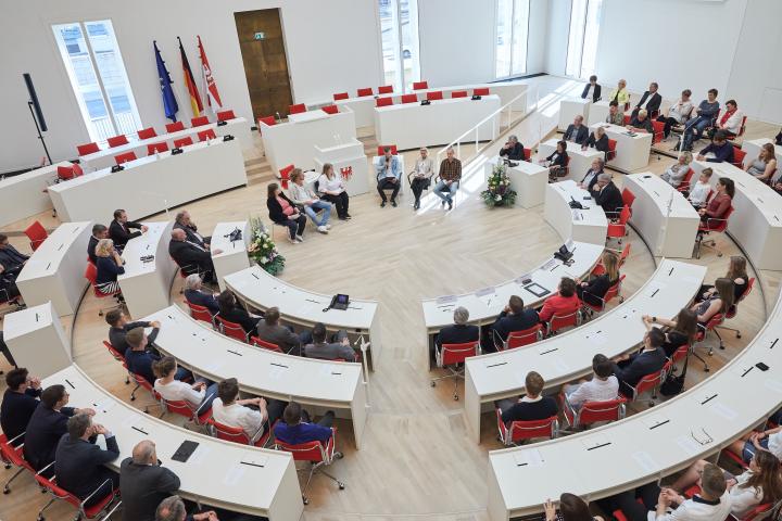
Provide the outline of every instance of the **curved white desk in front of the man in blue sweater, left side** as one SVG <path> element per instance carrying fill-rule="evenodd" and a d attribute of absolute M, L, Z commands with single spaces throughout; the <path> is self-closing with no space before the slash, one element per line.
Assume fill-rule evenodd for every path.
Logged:
<path fill-rule="evenodd" d="M 353 419 L 356 447 L 361 447 L 367 419 L 367 397 L 361 364 L 340 364 L 283 355 L 230 339 L 169 306 L 142 320 L 159 320 L 155 346 L 191 371 L 213 381 L 236 378 L 242 392 L 255 396 L 297 401 L 318 414 L 337 409 Z"/>

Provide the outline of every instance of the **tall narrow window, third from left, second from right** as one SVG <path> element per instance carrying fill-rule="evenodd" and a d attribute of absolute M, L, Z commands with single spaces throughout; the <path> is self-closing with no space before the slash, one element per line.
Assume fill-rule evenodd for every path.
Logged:
<path fill-rule="evenodd" d="M 527 72 L 528 29 L 529 0 L 497 0 L 495 78 Z"/>

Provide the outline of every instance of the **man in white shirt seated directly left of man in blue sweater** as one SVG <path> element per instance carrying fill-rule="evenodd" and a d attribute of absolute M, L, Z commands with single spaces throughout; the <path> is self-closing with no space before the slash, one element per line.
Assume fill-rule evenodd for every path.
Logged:
<path fill-rule="evenodd" d="M 224 425 L 241 428 L 251 444 L 263 437 L 282 416 L 286 403 L 278 399 L 237 399 L 239 383 L 236 378 L 223 380 L 217 385 L 217 398 L 212 403 L 212 418 Z"/>

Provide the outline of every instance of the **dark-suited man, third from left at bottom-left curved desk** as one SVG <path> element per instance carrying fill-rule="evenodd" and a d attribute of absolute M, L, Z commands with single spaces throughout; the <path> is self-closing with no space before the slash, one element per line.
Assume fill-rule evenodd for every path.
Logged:
<path fill-rule="evenodd" d="M 101 434 L 105 450 L 94 443 Z M 86 499 L 85 507 L 92 506 L 119 486 L 119 476 L 105 467 L 118 456 L 119 446 L 111 431 L 93 425 L 89 415 L 73 416 L 67 420 L 67 434 L 60 439 L 55 453 L 58 485 Z"/>

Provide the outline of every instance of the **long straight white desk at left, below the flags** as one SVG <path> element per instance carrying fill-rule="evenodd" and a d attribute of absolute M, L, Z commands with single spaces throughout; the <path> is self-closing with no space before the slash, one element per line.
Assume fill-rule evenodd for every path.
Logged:
<path fill-rule="evenodd" d="M 202 142 L 125 163 L 49 187 L 49 195 L 62 220 L 110 219 L 125 208 L 140 219 L 167 208 L 247 185 L 244 160 L 238 140 Z"/>

